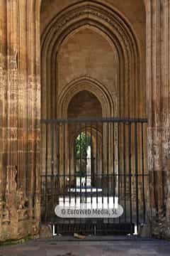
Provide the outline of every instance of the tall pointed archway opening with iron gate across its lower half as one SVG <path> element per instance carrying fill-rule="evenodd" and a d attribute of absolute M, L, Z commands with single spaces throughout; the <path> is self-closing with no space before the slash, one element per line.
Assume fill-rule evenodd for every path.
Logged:
<path fill-rule="evenodd" d="M 145 54 L 137 31 L 121 10 L 94 1 L 66 6 L 44 28 L 42 221 L 55 223 L 57 233 L 133 233 L 146 220 L 149 188 Z M 83 137 L 90 138 L 85 153 Z M 123 215 L 87 220 L 54 213 L 56 205 L 84 201 L 117 202 Z"/>

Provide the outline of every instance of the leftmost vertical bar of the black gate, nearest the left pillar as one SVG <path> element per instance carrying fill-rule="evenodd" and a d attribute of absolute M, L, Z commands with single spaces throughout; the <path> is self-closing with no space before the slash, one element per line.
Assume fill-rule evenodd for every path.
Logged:
<path fill-rule="evenodd" d="M 45 223 L 47 222 L 48 124 L 45 124 Z"/>

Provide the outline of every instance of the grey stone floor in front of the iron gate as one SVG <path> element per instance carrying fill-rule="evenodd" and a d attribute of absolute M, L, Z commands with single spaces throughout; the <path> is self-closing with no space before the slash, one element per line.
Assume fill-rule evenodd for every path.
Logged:
<path fill-rule="evenodd" d="M 170 255 L 170 242 L 136 238 L 55 238 L 0 247 L 0 256 L 128 256 Z"/>

